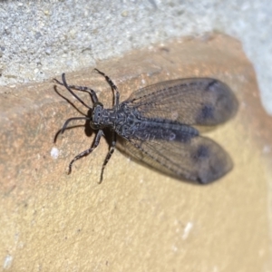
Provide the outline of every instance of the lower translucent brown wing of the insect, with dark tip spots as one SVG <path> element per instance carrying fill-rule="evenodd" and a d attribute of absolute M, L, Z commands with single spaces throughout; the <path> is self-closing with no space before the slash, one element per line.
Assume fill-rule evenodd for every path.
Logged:
<path fill-rule="evenodd" d="M 179 180 L 206 184 L 232 169 L 228 153 L 215 141 L 196 136 L 189 141 L 119 139 L 121 151 Z M 120 144 L 121 143 L 121 144 Z"/>

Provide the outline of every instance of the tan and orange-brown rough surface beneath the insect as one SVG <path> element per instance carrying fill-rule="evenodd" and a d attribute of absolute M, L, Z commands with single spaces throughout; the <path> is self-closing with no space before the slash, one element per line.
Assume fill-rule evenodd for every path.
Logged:
<path fill-rule="evenodd" d="M 235 168 L 209 186 L 194 186 L 115 151 L 98 184 L 108 150 L 102 141 L 66 175 L 69 161 L 91 145 L 93 135 L 82 126 L 55 144 L 53 138 L 63 121 L 81 114 L 50 82 L 2 88 L 2 269 L 270 271 L 272 120 L 241 45 L 223 35 L 187 39 L 135 50 L 97 68 L 119 86 L 121 101 L 140 87 L 180 77 L 228 83 L 239 112 L 208 137 L 229 152 Z M 66 76 L 68 83 L 97 90 L 111 106 L 110 88 L 92 69 Z M 79 106 L 64 88 L 57 91 Z"/>

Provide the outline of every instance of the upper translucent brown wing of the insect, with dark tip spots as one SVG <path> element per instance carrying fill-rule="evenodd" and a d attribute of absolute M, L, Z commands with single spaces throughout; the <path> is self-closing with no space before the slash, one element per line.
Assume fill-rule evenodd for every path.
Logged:
<path fill-rule="evenodd" d="M 217 125 L 238 110 L 238 101 L 228 85 L 211 78 L 157 83 L 133 92 L 122 103 L 137 109 L 143 117 L 195 125 Z"/>

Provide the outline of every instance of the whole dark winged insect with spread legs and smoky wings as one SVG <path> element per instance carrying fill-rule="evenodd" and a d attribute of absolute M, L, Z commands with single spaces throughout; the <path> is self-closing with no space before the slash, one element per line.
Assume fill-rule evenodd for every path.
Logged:
<path fill-rule="evenodd" d="M 73 120 L 90 121 L 92 129 L 97 131 L 92 147 L 70 162 L 69 173 L 75 160 L 98 146 L 106 128 L 112 131 L 112 143 L 102 165 L 100 181 L 114 151 L 117 135 L 121 151 L 179 180 L 207 184 L 232 169 L 228 153 L 215 141 L 199 136 L 199 131 L 192 126 L 217 125 L 237 112 L 238 101 L 228 85 L 212 78 L 178 79 L 142 88 L 120 103 L 120 94 L 112 80 L 99 70 L 95 71 L 102 74 L 112 88 L 112 109 L 104 109 L 92 89 L 68 85 L 64 73 L 63 83 L 55 80 L 89 109 L 88 115 L 65 121 L 62 132 Z M 88 92 L 92 107 L 72 89 Z"/>

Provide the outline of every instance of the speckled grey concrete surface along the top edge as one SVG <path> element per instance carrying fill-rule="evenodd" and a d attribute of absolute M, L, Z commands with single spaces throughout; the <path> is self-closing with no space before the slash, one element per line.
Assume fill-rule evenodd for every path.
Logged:
<path fill-rule="evenodd" d="M 41 82 L 133 48 L 218 31 L 254 63 L 272 114 L 269 0 L 0 0 L 0 85 Z"/>

